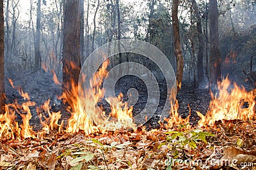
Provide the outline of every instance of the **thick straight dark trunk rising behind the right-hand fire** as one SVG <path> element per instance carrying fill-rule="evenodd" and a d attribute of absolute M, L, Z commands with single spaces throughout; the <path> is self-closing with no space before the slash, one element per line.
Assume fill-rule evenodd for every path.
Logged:
<path fill-rule="evenodd" d="M 209 27 L 210 27 L 210 83 L 216 85 L 221 78 L 220 62 L 220 43 L 218 33 L 218 6 L 217 0 L 209 1 Z"/>

